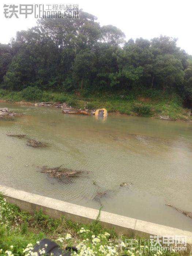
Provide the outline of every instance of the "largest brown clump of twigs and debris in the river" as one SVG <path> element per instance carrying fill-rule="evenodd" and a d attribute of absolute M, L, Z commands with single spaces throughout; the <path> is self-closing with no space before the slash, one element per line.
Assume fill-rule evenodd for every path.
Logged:
<path fill-rule="evenodd" d="M 84 173 L 84 171 L 82 171 L 82 170 L 72 170 L 72 169 L 68 169 L 68 168 L 61 168 L 61 166 L 63 166 L 63 165 L 60 165 L 59 167 L 53 167 L 53 168 L 43 166 L 41 168 L 41 173 L 47 173 L 49 175 L 49 177 L 57 178 L 57 179 L 66 178 L 66 179 L 70 180 L 70 178 L 72 178 L 72 177 L 73 178 L 74 177 L 84 177 L 84 176 L 80 176 L 80 174 Z"/>

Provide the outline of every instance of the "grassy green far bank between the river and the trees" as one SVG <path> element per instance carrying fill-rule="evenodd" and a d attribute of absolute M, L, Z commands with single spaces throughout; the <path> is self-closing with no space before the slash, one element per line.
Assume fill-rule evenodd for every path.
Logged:
<path fill-rule="evenodd" d="M 17 102 L 66 102 L 74 108 L 106 108 L 108 112 L 120 112 L 134 116 L 159 118 L 169 116 L 170 120 L 189 121 L 189 109 L 182 106 L 181 98 L 176 94 L 163 94 L 158 90 L 130 91 L 129 94 L 116 93 L 57 93 L 41 91 L 34 87 L 27 87 L 23 91 L 8 91 L 0 89 L 0 99 Z"/>

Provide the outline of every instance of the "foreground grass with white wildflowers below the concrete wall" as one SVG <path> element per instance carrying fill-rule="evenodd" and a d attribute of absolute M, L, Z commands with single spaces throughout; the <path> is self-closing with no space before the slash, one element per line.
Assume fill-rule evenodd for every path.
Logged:
<path fill-rule="evenodd" d="M 31 215 L 8 203 L 0 194 L 0 256 L 32 256 L 33 245 L 42 238 L 56 241 L 61 248 L 76 246 L 78 254 L 74 255 L 179 255 L 176 252 L 152 252 L 141 238 L 128 238 L 103 229 L 98 219 L 89 225 L 81 225 L 65 218 L 53 220 L 42 211 Z"/>

